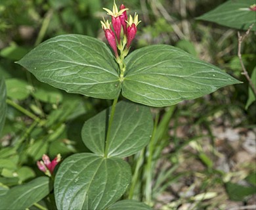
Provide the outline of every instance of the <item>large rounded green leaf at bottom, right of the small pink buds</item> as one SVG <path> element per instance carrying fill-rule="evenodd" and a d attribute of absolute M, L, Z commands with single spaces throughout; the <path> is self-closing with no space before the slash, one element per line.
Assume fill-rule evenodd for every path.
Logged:
<path fill-rule="evenodd" d="M 54 181 L 58 209 L 105 209 L 125 192 L 131 169 L 119 158 L 74 154 L 65 159 Z"/>

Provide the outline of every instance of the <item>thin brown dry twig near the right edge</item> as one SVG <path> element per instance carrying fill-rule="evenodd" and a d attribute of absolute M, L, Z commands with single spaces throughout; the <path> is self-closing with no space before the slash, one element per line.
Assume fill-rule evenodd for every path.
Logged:
<path fill-rule="evenodd" d="M 240 60 L 241 66 L 242 66 L 242 70 L 243 70 L 242 74 L 245 75 L 245 77 L 246 77 L 247 81 L 249 82 L 249 85 L 250 85 L 254 95 L 256 96 L 256 87 L 255 87 L 255 85 L 253 85 L 253 82 L 251 81 L 251 78 L 249 77 L 249 74 L 248 74 L 247 70 L 245 69 L 244 62 L 242 60 L 242 55 L 241 55 L 242 42 L 244 41 L 245 37 L 247 37 L 247 35 L 251 31 L 251 28 L 253 28 L 253 24 L 251 24 L 251 26 L 245 32 L 244 35 L 240 35 L 240 32 L 238 31 L 238 58 Z"/>

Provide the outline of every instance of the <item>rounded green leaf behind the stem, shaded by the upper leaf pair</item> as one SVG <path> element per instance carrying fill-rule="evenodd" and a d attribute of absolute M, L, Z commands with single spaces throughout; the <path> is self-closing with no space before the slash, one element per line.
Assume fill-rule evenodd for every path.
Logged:
<path fill-rule="evenodd" d="M 110 108 L 92 117 L 85 122 L 81 131 L 85 146 L 100 156 L 104 156 L 109 113 Z M 108 156 L 124 158 L 135 154 L 148 144 L 152 129 L 150 108 L 132 102 L 118 102 L 110 133 Z"/>

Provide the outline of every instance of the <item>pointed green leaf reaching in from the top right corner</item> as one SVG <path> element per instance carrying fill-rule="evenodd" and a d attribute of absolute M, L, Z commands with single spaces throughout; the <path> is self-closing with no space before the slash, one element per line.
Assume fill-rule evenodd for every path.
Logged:
<path fill-rule="evenodd" d="M 252 30 L 256 31 L 255 11 L 249 10 L 249 7 L 253 4 L 255 4 L 255 0 L 226 1 L 216 9 L 203 14 L 197 19 L 215 22 L 222 26 L 239 30 L 248 30 L 249 26 L 254 24 Z"/>

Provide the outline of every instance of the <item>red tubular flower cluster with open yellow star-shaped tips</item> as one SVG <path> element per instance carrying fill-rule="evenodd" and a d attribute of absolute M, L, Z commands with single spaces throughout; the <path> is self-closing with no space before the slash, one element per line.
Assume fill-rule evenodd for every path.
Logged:
<path fill-rule="evenodd" d="M 126 56 L 129 52 L 131 42 L 135 38 L 137 33 L 137 26 L 140 23 L 138 21 L 138 15 L 135 13 L 134 18 L 130 15 L 129 20 L 127 18 L 127 8 L 125 5 L 121 5 L 119 9 L 117 8 L 116 2 L 114 0 L 113 11 L 103 8 L 107 14 L 112 16 L 112 22 L 108 22 L 103 18 L 100 21 L 102 24 L 102 29 L 105 32 L 106 39 L 113 49 L 116 58 L 118 58 L 117 49 L 119 49 L 120 54 Z M 113 26 L 113 30 L 111 27 Z"/>

